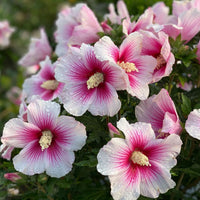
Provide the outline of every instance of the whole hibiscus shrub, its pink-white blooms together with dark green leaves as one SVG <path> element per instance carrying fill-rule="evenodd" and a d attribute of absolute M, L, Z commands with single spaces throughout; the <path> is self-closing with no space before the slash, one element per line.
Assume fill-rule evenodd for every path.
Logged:
<path fill-rule="evenodd" d="M 200 198 L 200 1 L 135 3 L 99 19 L 67 5 L 53 42 L 44 28 L 31 39 L 2 131 L 2 198 Z M 2 48 L 13 31 L 0 22 Z"/>

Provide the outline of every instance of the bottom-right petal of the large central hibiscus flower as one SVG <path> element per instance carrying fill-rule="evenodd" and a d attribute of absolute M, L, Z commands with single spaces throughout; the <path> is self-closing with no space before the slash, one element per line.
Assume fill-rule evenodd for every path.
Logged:
<path fill-rule="evenodd" d="M 114 116 L 121 107 L 121 102 L 114 87 L 110 83 L 104 83 L 96 89 L 95 98 L 88 110 L 93 115 Z"/>

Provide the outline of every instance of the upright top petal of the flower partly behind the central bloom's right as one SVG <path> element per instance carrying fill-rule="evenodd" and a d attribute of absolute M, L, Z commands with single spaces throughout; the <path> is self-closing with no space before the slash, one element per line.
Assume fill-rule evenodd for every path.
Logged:
<path fill-rule="evenodd" d="M 135 56 L 140 55 L 142 50 L 142 34 L 139 32 L 131 33 L 120 45 L 119 61 L 128 62 Z"/>

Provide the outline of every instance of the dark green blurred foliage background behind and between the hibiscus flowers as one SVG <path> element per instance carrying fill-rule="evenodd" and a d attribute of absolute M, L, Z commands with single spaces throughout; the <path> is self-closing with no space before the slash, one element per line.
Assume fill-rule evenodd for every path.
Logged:
<path fill-rule="evenodd" d="M 129 13 L 131 15 L 140 15 L 148 7 L 152 6 L 157 0 L 124 0 Z M 79 1 L 76 0 L 0 0 L 0 21 L 8 20 L 12 27 L 15 27 L 16 31 L 11 37 L 10 46 L 0 50 L 0 131 L 2 132 L 4 124 L 11 118 L 18 115 L 19 106 L 11 102 L 7 97 L 7 92 L 13 87 L 17 86 L 22 88 L 22 84 L 25 79 L 24 69 L 21 68 L 17 62 L 28 50 L 30 38 L 39 35 L 38 30 L 44 27 L 50 43 L 55 45 L 53 33 L 56 29 L 55 21 L 59 10 L 68 5 L 74 5 Z M 82 1 L 87 3 L 88 6 L 95 12 L 99 21 L 103 20 L 103 15 L 108 13 L 108 4 L 116 4 L 116 0 L 87 0 Z M 172 0 L 164 0 L 165 4 L 170 7 Z M 186 68 L 184 68 L 186 70 Z M 182 73 L 183 68 L 181 69 Z M 157 86 L 151 86 L 151 93 L 158 93 L 161 87 L 165 87 L 168 82 L 168 78 L 163 79 Z M 162 85 L 163 84 L 163 85 Z M 188 97 L 195 97 L 195 94 L 189 93 L 187 95 L 180 95 L 180 89 L 176 87 L 172 88 L 172 99 L 175 99 L 175 104 L 179 105 L 178 112 L 183 117 L 194 108 L 191 105 L 195 105 L 199 102 L 195 99 L 191 100 Z M 199 90 L 196 91 L 199 94 Z M 121 94 L 121 101 L 126 110 L 127 117 L 133 118 L 134 110 L 138 100 L 131 99 L 128 104 L 124 104 L 127 101 L 127 95 L 123 92 Z M 180 107 L 180 101 L 182 102 Z M 194 102 L 195 101 L 195 102 Z M 188 108 L 188 105 L 190 106 Z M 200 108 L 200 105 L 195 108 Z M 182 109 L 182 110 L 181 110 Z M 188 109 L 188 110 L 187 110 Z M 185 113 L 184 113 L 185 112 Z M 182 118 L 185 121 L 186 118 Z M 81 121 L 87 126 L 89 137 L 87 145 L 79 152 L 76 153 L 76 161 L 73 170 L 65 177 L 60 179 L 50 178 L 45 174 L 34 176 L 22 176 L 22 179 L 17 183 L 12 183 L 4 179 L 4 174 L 8 172 L 14 172 L 12 162 L 0 159 L 0 200 L 1 199 L 27 199 L 27 200 L 53 200 L 53 199 L 66 199 L 66 200 L 111 200 L 110 185 L 107 177 L 101 176 L 96 171 L 96 154 L 98 149 L 102 147 L 102 143 L 109 140 L 108 130 L 106 129 L 106 118 L 93 117 L 89 113 L 82 117 L 78 117 L 77 120 Z M 116 117 L 110 119 L 111 122 L 116 122 Z M 182 186 L 182 191 L 187 191 L 193 185 L 198 183 L 200 177 L 199 166 L 197 163 L 199 160 L 199 152 L 197 148 L 192 149 L 194 145 L 198 145 L 195 139 L 183 136 L 187 143 L 184 148 L 191 149 L 190 152 L 183 152 L 180 156 L 182 162 L 179 164 L 179 168 L 173 170 L 173 179 L 176 182 L 181 183 L 181 179 L 184 178 L 184 184 L 188 187 Z M 88 153 L 90 149 L 90 153 Z M 18 150 L 16 150 L 18 151 Z M 191 153 L 195 153 L 193 160 L 186 159 L 191 156 Z M 16 152 L 14 152 L 15 154 Z M 185 166 L 187 165 L 187 169 Z M 88 170 L 89 169 L 89 170 Z M 9 188 L 19 189 L 19 194 L 13 196 L 8 193 Z M 174 190 L 169 191 L 167 194 L 162 195 L 159 199 L 167 200 L 172 199 L 195 199 L 190 194 L 185 195 L 183 198 L 183 192 L 179 191 L 180 185 Z M 200 194 L 197 190 L 194 191 L 194 196 L 200 199 Z M 191 192 L 191 191 L 190 191 Z M 173 195 L 171 195 L 173 193 Z M 140 200 L 147 198 L 140 197 Z M 172 200 L 171 199 L 171 200 Z"/>

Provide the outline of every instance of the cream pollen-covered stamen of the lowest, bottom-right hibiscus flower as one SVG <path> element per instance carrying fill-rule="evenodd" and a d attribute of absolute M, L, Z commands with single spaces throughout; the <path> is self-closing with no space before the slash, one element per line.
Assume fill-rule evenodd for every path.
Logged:
<path fill-rule="evenodd" d="M 133 161 L 133 163 L 141 166 L 151 166 L 148 157 L 140 151 L 134 151 L 132 153 L 131 160 Z"/>

